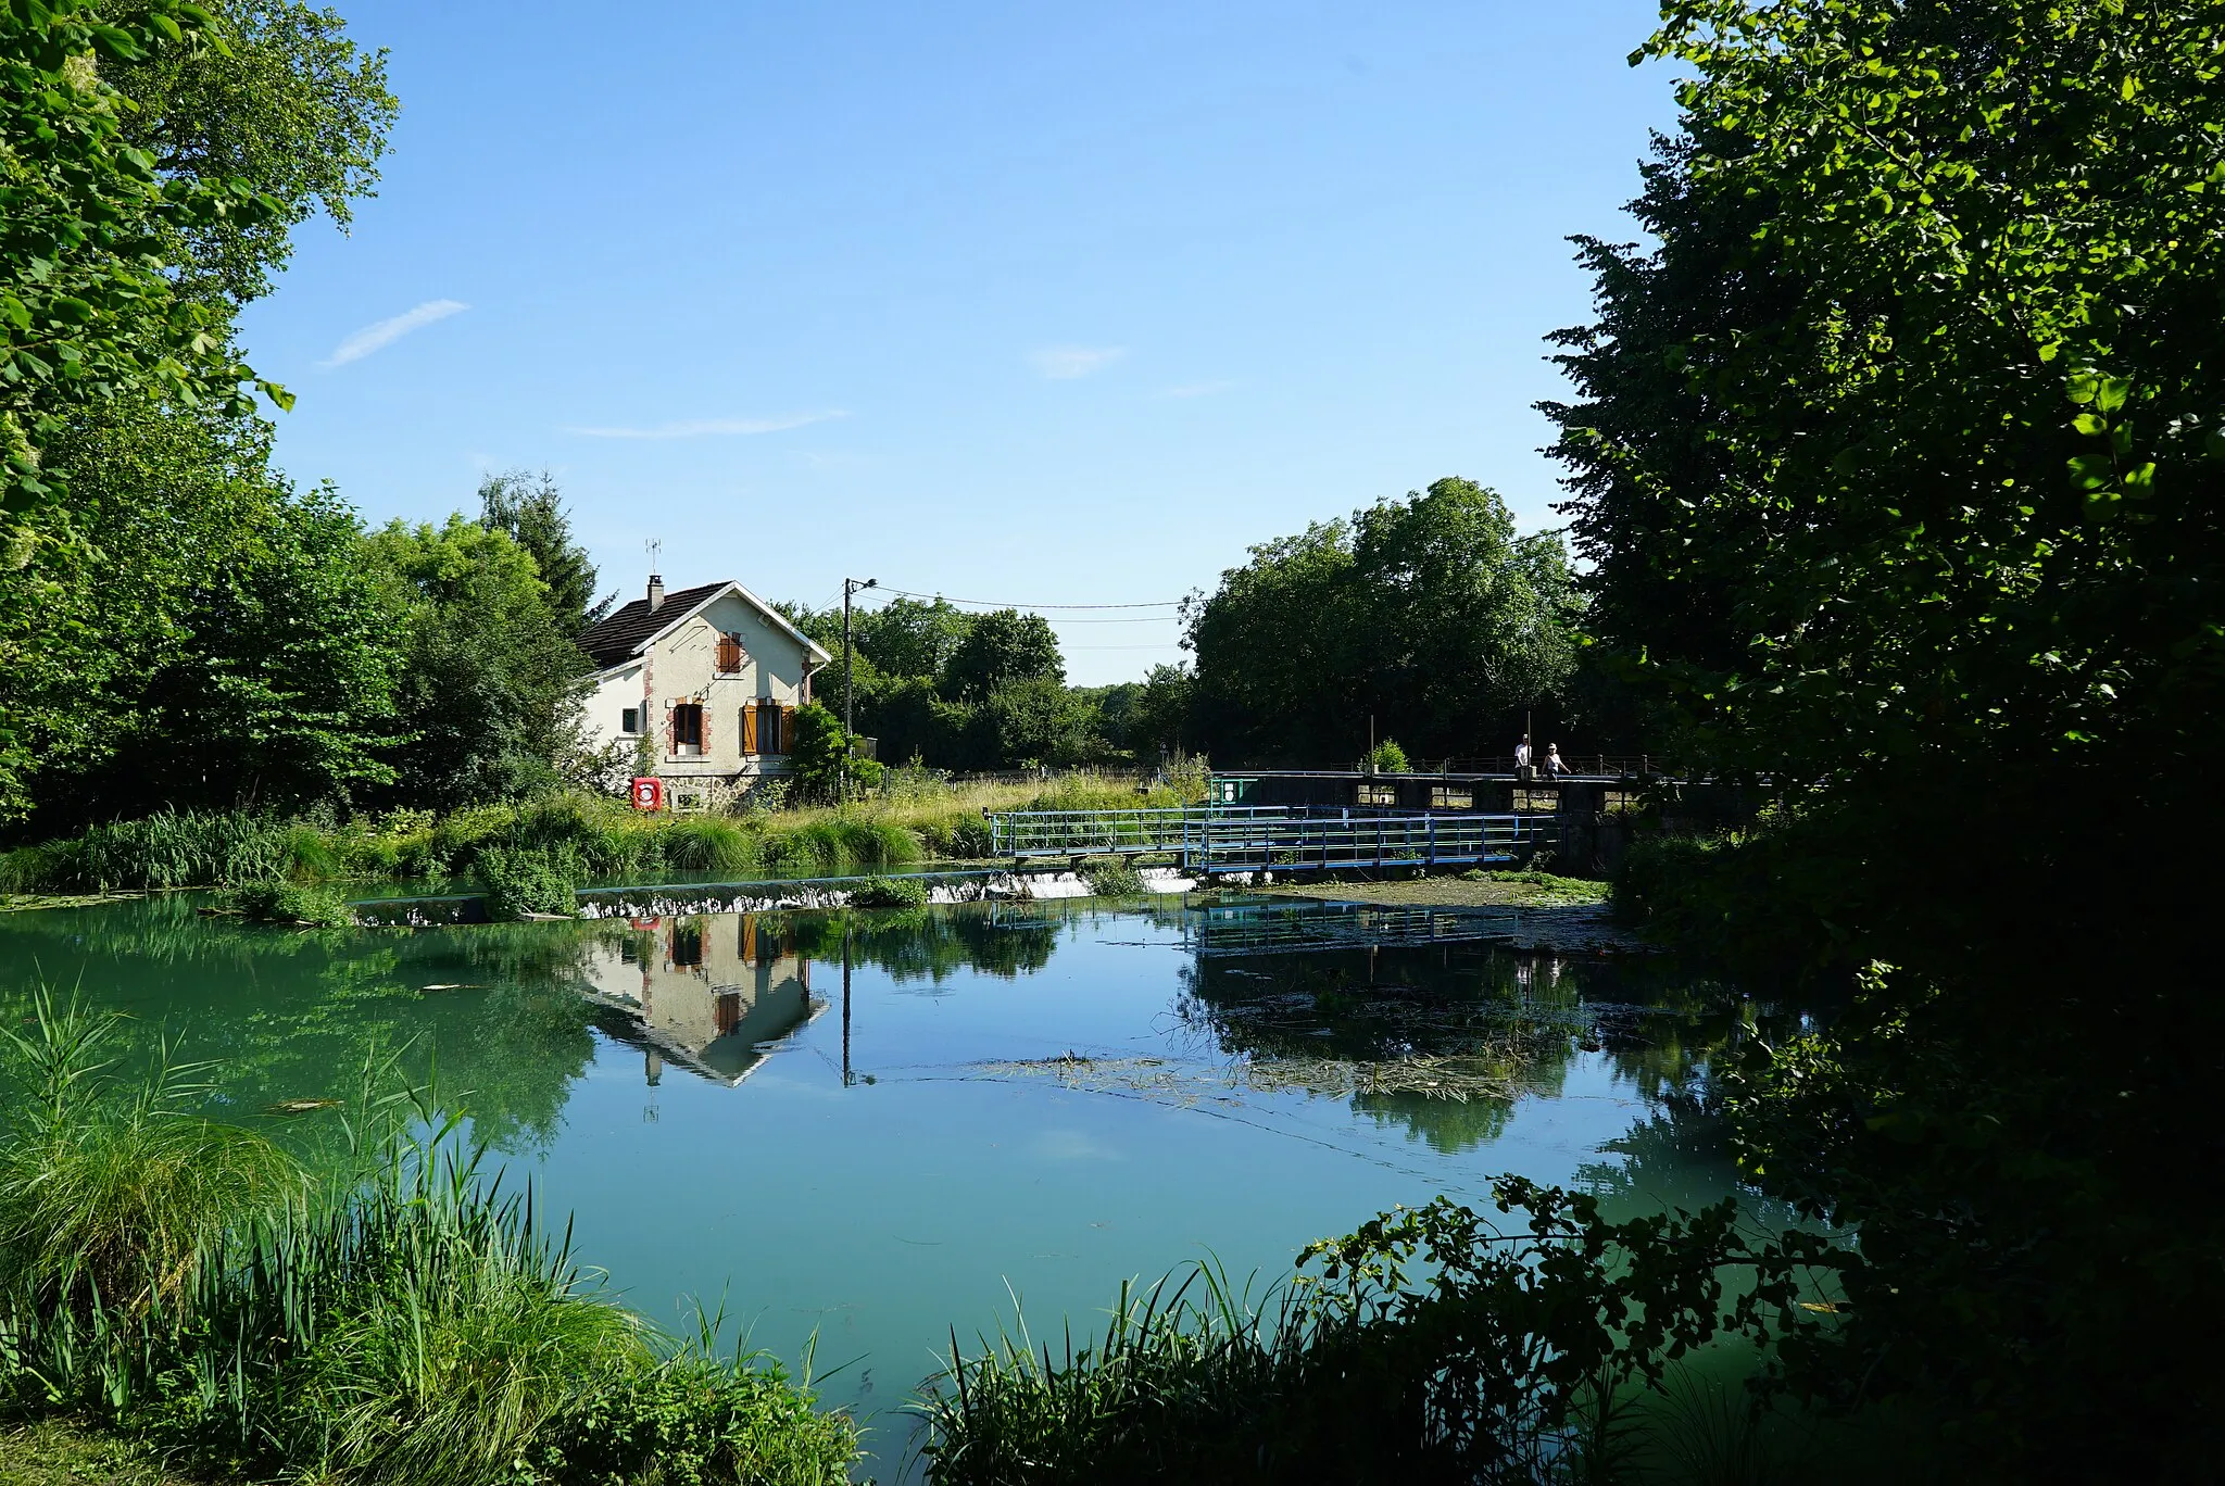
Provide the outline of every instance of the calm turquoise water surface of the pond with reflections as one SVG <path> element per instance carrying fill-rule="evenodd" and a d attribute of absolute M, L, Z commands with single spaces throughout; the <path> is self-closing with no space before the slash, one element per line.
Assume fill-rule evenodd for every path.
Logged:
<path fill-rule="evenodd" d="M 0 990 L 20 1017 L 76 985 L 289 1130 L 329 1114 L 269 1106 L 403 1048 L 634 1306 L 723 1299 L 850 1364 L 825 1397 L 877 1415 L 888 1473 L 950 1328 L 1015 1295 L 1041 1337 L 1188 1259 L 1266 1284 L 1497 1172 L 1620 1210 L 1731 1190 L 1675 1110 L 1751 1008 L 1462 932 L 1166 899 L 294 934 L 158 899 L 0 914 Z"/>

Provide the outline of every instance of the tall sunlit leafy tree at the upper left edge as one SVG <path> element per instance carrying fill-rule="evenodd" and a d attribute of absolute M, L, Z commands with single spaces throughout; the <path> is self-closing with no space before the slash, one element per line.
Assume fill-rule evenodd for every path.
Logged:
<path fill-rule="evenodd" d="M 147 681 L 222 630 L 198 578 L 307 521 L 229 316 L 294 222 L 345 225 L 394 100 L 303 4 L 13 7 L 0 71 L 0 819 L 145 808 L 109 761 L 156 727 Z"/>

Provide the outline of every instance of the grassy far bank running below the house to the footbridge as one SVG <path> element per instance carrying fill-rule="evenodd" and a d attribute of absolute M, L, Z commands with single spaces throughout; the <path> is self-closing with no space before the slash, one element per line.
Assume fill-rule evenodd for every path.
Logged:
<path fill-rule="evenodd" d="M 563 794 L 447 816 L 398 812 L 340 825 L 247 812 L 162 812 L 0 854 L 0 894 L 465 881 L 503 910 L 552 912 L 590 876 L 663 872 L 852 872 L 988 854 L 992 810 L 1119 810 L 1195 803 L 1202 779 L 1139 794 L 1092 772 L 1041 783 L 952 785 L 897 770 L 848 808 L 641 814 Z M 314 917 L 314 914 L 287 914 Z"/>

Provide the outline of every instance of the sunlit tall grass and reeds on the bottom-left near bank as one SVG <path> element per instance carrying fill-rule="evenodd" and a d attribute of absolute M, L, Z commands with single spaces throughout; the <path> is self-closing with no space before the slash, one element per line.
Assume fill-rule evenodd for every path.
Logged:
<path fill-rule="evenodd" d="M 850 1419 L 623 1308 L 452 1123 L 365 1099 L 312 1170 L 194 1070 L 118 1081 L 109 1028 L 42 999 L 4 1046 L 0 1406 L 58 1470 L 111 1435 L 214 1479 L 848 1479 Z"/>

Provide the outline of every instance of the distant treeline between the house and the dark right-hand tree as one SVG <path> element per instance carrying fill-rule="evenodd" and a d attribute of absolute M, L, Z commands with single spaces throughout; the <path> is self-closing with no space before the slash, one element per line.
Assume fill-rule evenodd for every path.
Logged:
<path fill-rule="evenodd" d="M 841 705 L 841 610 L 785 612 L 837 654 L 819 694 Z M 1495 492 L 1444 478 L 1253 547 L 1184 605 L 1195 663 L 1141 681 L 1066 685 L 1041 614 L 968 614 L 941 598 L 857 610 L 857 727 L 888 763 L 952 770 L 1153 763 L 1177 750 L 1346 765 L 1386 736 L 1444 761 L 1509 752 L 1524 714 L 1589 747 L 1622 719 L 1613 690 L 1578 672 L 1580 618 L 1560 536 L 1515 536 Z"/>

